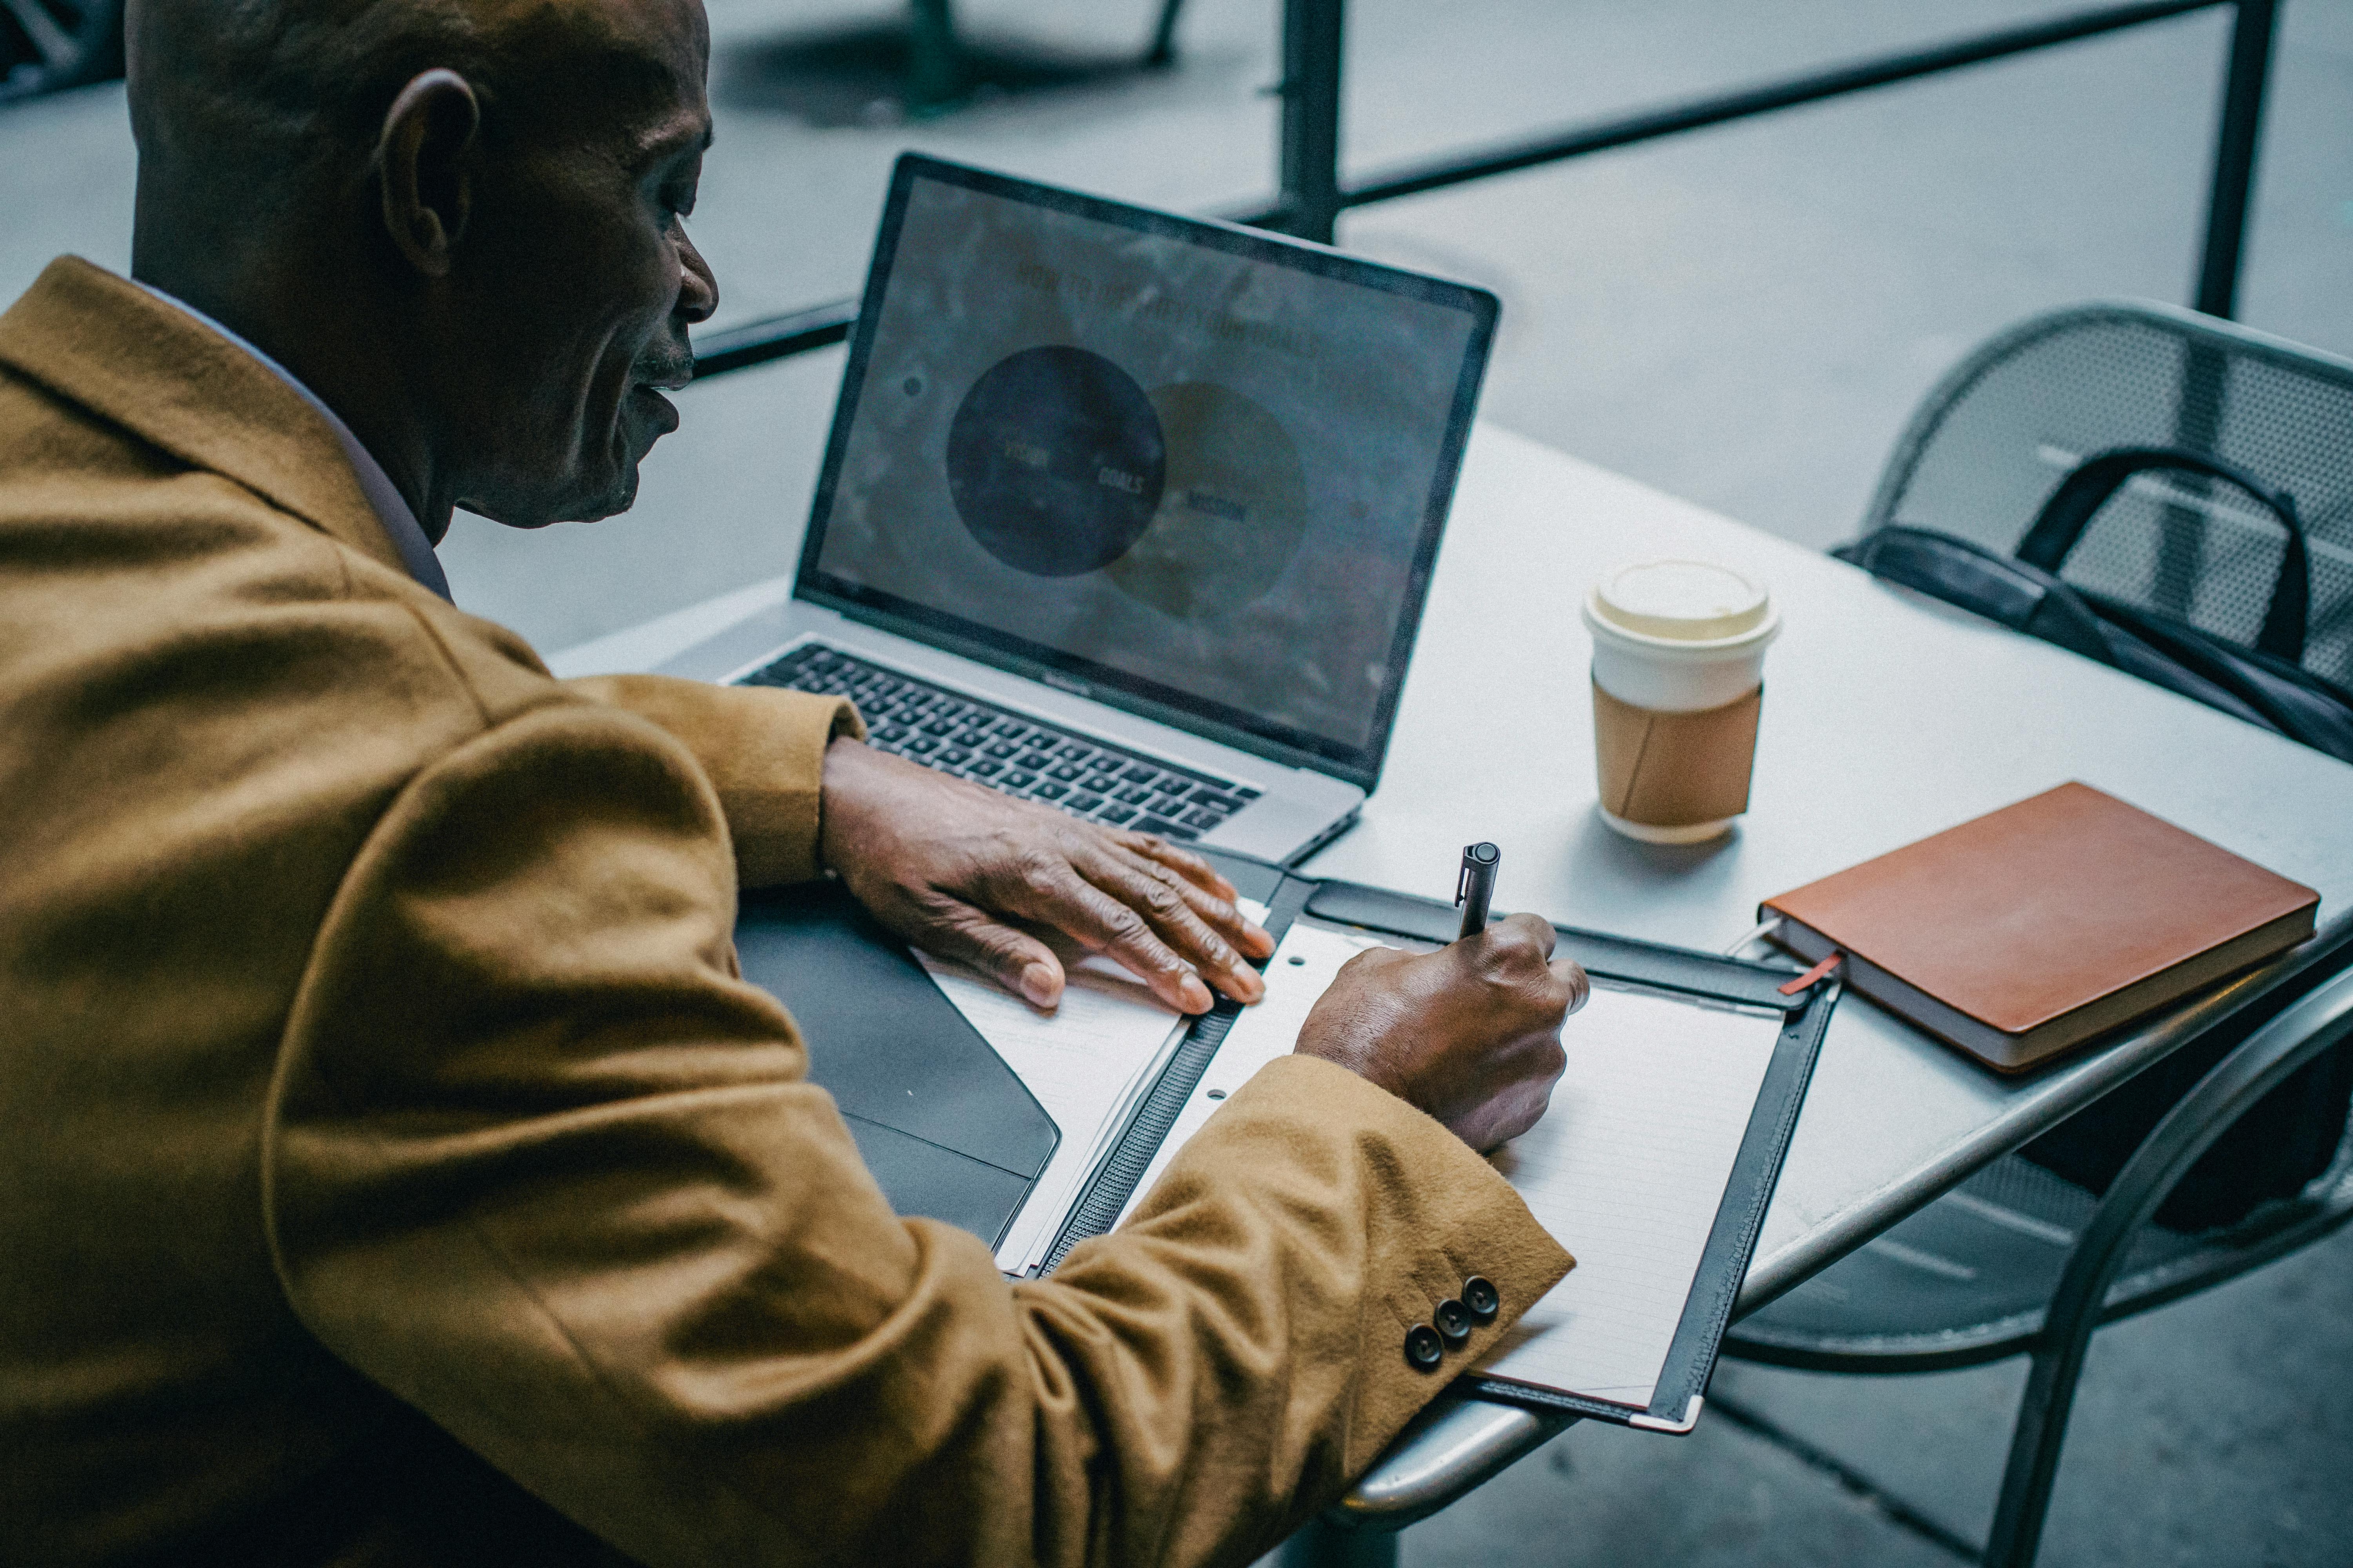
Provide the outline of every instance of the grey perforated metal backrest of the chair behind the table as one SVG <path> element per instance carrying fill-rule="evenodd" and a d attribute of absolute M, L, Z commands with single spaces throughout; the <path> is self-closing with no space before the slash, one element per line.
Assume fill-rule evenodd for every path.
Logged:
<path fill-rule="evenodd" d="M 1864 531 L 1939 529 L 2007 555 L 2113 447 L 2179 447 L 2289 491 L 2311 550 L 2304 668 L 2353 686 L 2353 360 L 2141 301 L 2028 317 L 1927 395 Z M 2280 524 L 2231 489 L 2141 475 L 2064 576 L 2252 649 L 2282 550 Z"/>

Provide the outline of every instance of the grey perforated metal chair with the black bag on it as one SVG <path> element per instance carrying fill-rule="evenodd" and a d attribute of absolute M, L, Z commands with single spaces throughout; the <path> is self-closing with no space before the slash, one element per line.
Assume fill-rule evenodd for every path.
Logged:
<path fill-rule="evenodd" d="M 1922 402 L 1864 531 L 1939 529 L 2012 552 L 2087 456 L 2174 447 L 2287 489 L 2306 524 L 2304 668 L 2353 684 L 2353 362 L 2144 303 L 2054 310 L 2000 334 Z M 2125 484 L 2061 576 L 2254 646 L 2285 534 L 2242 496 L 2184 475 Z M 2195 1051 L 2205 1077 L 2104 1197 L 2017 1154 L 1734 1324 L 1725 1354 L 1838 1373 L 1974 1366 L 2033 1352 L 2035 1375 L 1995 1509 L 1988 1563 L 2031 1563 L 2082 1349 L 2146 1312 L 2318 1241 L 2353 1218 L 2353 1138 L 2301 1190 L 2233 1225 L 2151 1225 L 2179 1178 L 2292 1072 L 2353 1030 L 2353 922 L 2233 985 L 2247 1004 Z M 2282 1065 L 2285 1063 L 2285 1065 Z M 2252 1077 L 2249 1077 L 2252 1074 Z M 2271 1105 L 2280 1105 L 2273 1100 Z"/>

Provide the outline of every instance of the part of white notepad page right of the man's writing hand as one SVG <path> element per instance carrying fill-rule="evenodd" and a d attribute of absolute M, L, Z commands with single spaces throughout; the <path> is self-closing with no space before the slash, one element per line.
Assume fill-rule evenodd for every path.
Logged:
<path fill-rule="evenodd" d="M 1781 1013 L 1595 983 L 1560 1037 L 1551 1110 L 1494 1166 L 1577 1267 L 1480 1371 L 1647 1408 Z"/>

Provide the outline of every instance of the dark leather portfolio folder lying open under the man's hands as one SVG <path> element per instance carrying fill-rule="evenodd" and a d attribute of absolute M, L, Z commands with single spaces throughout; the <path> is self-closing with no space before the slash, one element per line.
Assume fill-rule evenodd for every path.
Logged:
<path fill-rule="evenodd" d="M 1457 912 L 1428 898 L 1313 882 L 1235 856 L 1209 858 L 1245 898 L 1268 907 L 1266 929 L 1278 940 L 1289 940 L 1294 926 L 1360 933 L 1367 940 L 1402 938 L 1405 945 L 1438 945 L 1457 936 Z M 1680 1255 L 1673 1286 L 1649 1309 L 1654 1382 L 1642 1380 L 1640 1392 L 1586 1389 L 1504 1375 L 1511 1373 L 1508 1363 L 1466 1371 L 1464 1382 L 1515 1403 L 1657 1432 L 1689 1432 L 1755 1251 L 1838 985 L 1805 985 L 1798 994 L 1786 994 L 1786 969 L 1572 926 L 1555 931 L 1558 952 L 1579 959 L 1598 987 L 1614 985 L 1689 1004 L 1704 1018 L 1741 1013 L 1760 1020 L 1744 1025 L 1762 1030 L 1751 1034 L 1758 1053 L 1746 1058 L 1758 1070 L 1758 1081 L 1753 1098 L 1748 1091 L 1739 1095 L 1737 1119 L 1720 1128 L 1722 1166 L 1706 1178 L 1706 1190 L 1687 1215 L 1689 1251 Z M 809 1041 L 809 1077 L 833 1091 L 892 1206 L 960 1225 L 995 1244 L 1054 1152 L 1054 1124 L 922 966 L 833 884 L 746 896 L 736 947 L 744 976 L 774 992 L 800 1020 Z M 1075 1201 L 1059 1215 L 1038 1274 L 1052 1272 L 1073 1246 L 1118 1222 L 1188 1110 L 1214 1114 L 1205 1100 L 1217 1098 L 1219 1074 L 1231 1070 L 1219 1063 L 1219 1048 L 1235 1034 L 1240 1013 L 1233 1001 L 1219 1001 L 1186 1027 Z M 1238 1048 L 1240 1044 L 1235 1039 Z M 1685 1098 L 1680 1088 L 1673 1095 Z M 1555 1100 L 1569 1098 L 1569 1084 L 1555 1091 Z M 1581 1126 L 1572 1143 L 1593 1147 Z M 1673 1117 L 1640 1128 L 1640 1143 L 1649 1145 L 1654 1159 L 1689 1161 L 1697 1154 L 1697 1145 L 1680 1143 Z M 1633 1159 L 1642 1150 L 1626 1154 Z M 1532 1197 L 1532 1204 L 1541 1208 L 1544 1199 Z M 1588 1260 L 1569 1281 L 1579 1288 L 1607 1288 L 1609 1267 L 1593 1262 L 1607 1239 L 1593 1234 L 1581 1213 L 1562 1213 L 1558 1222 L 1572 1248 L 1581 1246 Z M 1522 1335 L 1534 1312 L 1541 1305 L 1522 1321 Z"/>

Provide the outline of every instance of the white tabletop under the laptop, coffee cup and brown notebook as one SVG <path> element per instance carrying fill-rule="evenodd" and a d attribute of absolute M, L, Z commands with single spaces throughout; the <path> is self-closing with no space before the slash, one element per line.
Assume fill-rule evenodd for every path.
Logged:
<path fill-rule="evenodd" d="M 1668 552 L 1758 574 L 1786 618 L 1765 665 L 1748 818 L 1694 849 L 1631 844 L 1593 816 L 1591 644 L 1577 602 L 1609 562 Z M 565 675 L 652 668 L 788 592 L 762 583 L 553 663 Z M 2353 766 L 1480 425 L 1381 788 L 1365 820 L 1306 870 L 1447 896 L 1461 846 L 1494 839 L 1499 907 L 1720 950 L 1772 893 L 2068 778 L 2320 889 L 2322 919 L 2353 905 Z M 2169 1020 L 2005 1081 L 1847 997 L 1741 1309 L 1835 1262 L 2186 1032 Z M 1485 1401 L 1433 1410 L 1346 1512 L 1409 1521 L 1558 1425 Z"/>

